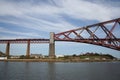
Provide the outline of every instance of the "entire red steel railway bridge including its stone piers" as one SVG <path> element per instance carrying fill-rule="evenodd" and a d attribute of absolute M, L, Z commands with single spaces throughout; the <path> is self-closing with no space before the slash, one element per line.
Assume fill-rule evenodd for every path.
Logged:
<path fill-rule="evenodd" d="M 49 43 L 49 57 L 55 57 L 55 41 L 69 41 L 103 46 L 120 51 L 120 18 L 88 25 L 61 33 L 50 33 L 50 39 L 9 39 L 6 43 L 6 56 L 9 56 L 10 43 L 27 43 L 26 56 L 30 55 L 30 43 Z"/>

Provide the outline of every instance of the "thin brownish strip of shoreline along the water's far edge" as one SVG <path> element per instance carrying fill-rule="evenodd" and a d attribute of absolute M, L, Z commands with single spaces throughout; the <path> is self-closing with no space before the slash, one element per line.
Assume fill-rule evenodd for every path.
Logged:
<path fill-rule="evenodd" d="M 0 60 L 4 62 L 114 62 L 120 60 L 76 60 L 76 59 L 7 59 L 7 60 Z"/>

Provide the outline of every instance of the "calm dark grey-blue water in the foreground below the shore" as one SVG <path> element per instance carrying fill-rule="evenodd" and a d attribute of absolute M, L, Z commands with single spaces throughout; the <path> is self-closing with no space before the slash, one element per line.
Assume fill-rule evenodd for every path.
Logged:
<path fill-rule="evenodd" d="M 0 80 L 120 80 L 120 62 L 0 62 Z"/>

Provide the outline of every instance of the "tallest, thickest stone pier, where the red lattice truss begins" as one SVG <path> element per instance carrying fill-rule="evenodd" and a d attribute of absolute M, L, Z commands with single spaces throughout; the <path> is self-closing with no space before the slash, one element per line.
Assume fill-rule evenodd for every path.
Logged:
<path fill-rule="evenodd" d="M 49 58 L 55 58 L 54 32 L 50 32 Z"/>

